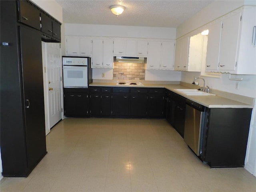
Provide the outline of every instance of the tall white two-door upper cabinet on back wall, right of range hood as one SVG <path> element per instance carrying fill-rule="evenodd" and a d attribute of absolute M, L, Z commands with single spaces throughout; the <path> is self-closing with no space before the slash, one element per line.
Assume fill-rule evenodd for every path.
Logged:
<path fill-rule="evenodd" d="M 173 70 L 175 43 L 150 41 L 148 47 L 147 69 Z"/>

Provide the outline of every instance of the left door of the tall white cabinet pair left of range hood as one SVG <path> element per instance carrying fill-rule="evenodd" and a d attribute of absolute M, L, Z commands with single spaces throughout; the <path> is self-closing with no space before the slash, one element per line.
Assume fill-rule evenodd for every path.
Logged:
<path fill-rule="evenodd" d="M 92 68 L 102 68 L 103 65 L 103 39 L 92 40 Z"/>

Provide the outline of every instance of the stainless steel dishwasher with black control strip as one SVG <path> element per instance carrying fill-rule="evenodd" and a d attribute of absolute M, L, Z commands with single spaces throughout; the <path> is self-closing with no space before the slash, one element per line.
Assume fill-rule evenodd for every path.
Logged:
<path fill-rule="evenodd" d="M 186 116 L 184 128 L 184 141 L 199 156 L 202 152 L 202 133 L 204 128 L 205 107 L 186 100 Z"/>

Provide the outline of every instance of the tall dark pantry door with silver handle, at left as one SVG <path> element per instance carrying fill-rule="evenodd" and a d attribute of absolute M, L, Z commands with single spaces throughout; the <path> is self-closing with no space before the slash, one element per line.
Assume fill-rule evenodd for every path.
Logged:
<path fill-rule="evenodd" d="M 41 36 L 20 27 L 28 168 L 46 154 Z"/>

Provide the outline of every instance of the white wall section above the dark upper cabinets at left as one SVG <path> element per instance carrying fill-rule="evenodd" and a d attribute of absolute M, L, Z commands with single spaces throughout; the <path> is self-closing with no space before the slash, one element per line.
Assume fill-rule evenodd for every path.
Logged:
<path fill-rule="evenodd" d="M 62 6 L 60 6 L 55 0 L 32 0 L 42 10 L 50 14 L 59 22 L 63 22 Z"/>

